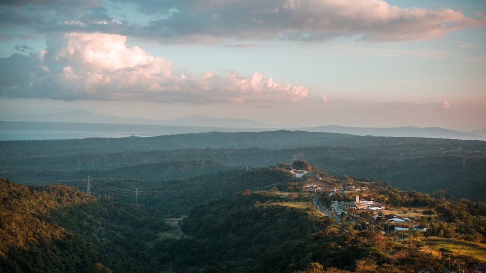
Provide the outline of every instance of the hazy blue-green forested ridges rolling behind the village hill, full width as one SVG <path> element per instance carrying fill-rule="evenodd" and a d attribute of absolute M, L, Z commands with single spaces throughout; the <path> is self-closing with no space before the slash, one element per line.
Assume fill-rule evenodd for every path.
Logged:
<path fill-rule="evenodd" d="M 377 178 L 405 190 L 447 190 L 458 199 L 486 200 L 485 141 L 281 130 L 2 141 L 0 150 L 0 176 L 26 184 L 70 181 L 86 189 L 87 177 L 163 184 L 302 159 L 336 177 Z M 138 187 L 130 186 L 124 190 Z"/>

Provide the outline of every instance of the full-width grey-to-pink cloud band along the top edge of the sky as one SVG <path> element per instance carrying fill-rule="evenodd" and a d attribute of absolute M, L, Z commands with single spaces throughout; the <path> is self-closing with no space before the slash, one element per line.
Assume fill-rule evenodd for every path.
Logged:
<path fill-rule="evenodd" d="M 98 0 L 72 2 L 5 2 L 1 22 L 41 33 L 120 33 L 166 44 L 220 43 L 230 38 L 321 42 L 355 36 L 371 42 L 415 41 L 486 24 L 486 17 L 478 14 L 400 8 L 383 0 L 114 1 L 114 5 L 134 5 L 137 22 L 109 16 L 113 13 Z M 35 8 L 18 9 L 19 5 Z"/>

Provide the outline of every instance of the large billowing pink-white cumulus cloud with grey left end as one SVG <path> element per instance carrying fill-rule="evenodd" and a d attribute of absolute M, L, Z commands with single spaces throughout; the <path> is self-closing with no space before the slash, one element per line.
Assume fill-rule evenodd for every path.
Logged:
<path fill-rule="evenodd" d="M 47 52 L 0 59 L 6 97 L 145 100 L 160 102 L 299 102 L 309 88 L 229 71 L 185 75 L 143 49 L 127 47 L 126 36 L 70 32 L 47 40 Z"/>

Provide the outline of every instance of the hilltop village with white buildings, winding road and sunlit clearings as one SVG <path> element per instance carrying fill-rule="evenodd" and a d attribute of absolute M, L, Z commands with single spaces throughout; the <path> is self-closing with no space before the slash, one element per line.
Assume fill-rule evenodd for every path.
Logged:
<path fill-rule="evenodd" d="M 314 195 L 314 208 L 333 218 L 339 232 L 371 231 L 402 244 L 415 244 L 428 257 L 442 259 L 444 272 L 450 272 L 446 268 L 461 272 L 482 272 L 485 268 L 486 222 L 482 215 L 486 211 L 476 210 L 477 205 L 485 209 L 483 202 L 450 202 L 445 192 L 403 192 L 376 179 L 329 177 L 305 161 L 294 162 L 292 173 L 302 173 L 295 170 L 297 167 L 306 171 L 299 177 L 300 191 Z M 478 252 L 478 248 L 483 250 Z M 455 259 L 446 259 L 449 256 Z M 436 272 L 427 266 L 420 270 L 417 272 Z"/>

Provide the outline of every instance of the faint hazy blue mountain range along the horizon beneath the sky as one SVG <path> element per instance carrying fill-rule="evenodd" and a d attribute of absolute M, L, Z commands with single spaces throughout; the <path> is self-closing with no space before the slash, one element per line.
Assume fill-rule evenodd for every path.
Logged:
<path fill-rule="evenodd" d="M 0 112 L 2 126 L 0 130 L 86 130 L 86 131 L 126 131 L 139 132 L 140 135 L 166 135 L 189 132 L 241 132 L 264 130 L 302 130 L 310 132 L 345 133 L 359 136 L 389 137 L 425 137 L 464 140 L 486 140 L 486 128 L 460 132 L 438 127 L 396 127 L 396 128 L 361 128 L 336 125 L 319 127 L 300 127 L 299 125 L 270 125 L 249 119 L 215 118 L 206 115 L 190 115 L 170 120 L 153 120 L 135 117 L 119 117 L 76 110 L 70 112 L 49 113 L 44 115 L 9 115 Z M 7 122 L 8 121 L 8 122 Z M 18 123 L 16 123 L 18 122 Z M 35 122 L 35 123 L 33 123 Z M 54 124 L 57 123 L 57 124 Z M 73 125 L 75 124 L 75 125 Z M 81 125 L 82 124 L 82 125 Z M 101 124 L 109 125 L 104 126 Z"/>

